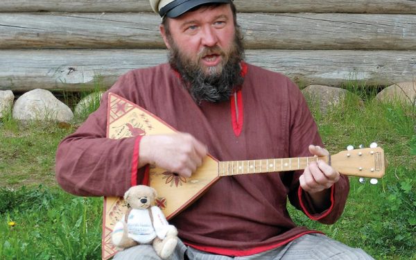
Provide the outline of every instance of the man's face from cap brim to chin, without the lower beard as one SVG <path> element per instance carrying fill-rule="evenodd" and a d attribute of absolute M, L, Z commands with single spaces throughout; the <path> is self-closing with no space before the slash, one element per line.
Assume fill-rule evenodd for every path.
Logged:
<path fill-rule="evenodd" d="M 161 32 L 168 49 L 198 66 L 205 76 L 218 75 L 234 48 L 235 25 L 228 4 L 202 6 L 169 19 L 169 35 Z"/>

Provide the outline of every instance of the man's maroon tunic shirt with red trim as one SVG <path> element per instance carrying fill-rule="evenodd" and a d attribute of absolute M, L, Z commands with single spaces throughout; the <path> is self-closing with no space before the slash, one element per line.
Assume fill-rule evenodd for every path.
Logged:
<path fill-rule="evenodd" d="M 309 144 L 322 146 L 297 86 L 279 73 L 249 64 L 246 68 L 241 91 L 231 102 L 197 105 L 168 64 L 130 71 L 110 92 L 146 108 L 176 130 L 189 132 L 220 161 L 310 156 Z M 123 196 L 132 184 L 138 142 L 135 137 L 105 138 L 106 115 L 105 94 L 98 110 L 58 147 L 57 180 L 70 193 Z M 143 168 L 138 171 L 141 183 Z M 322 223 L 334 223 L 345 206 L 347 177 L 331 188 L 329 209 L 316 212 L 300 188 L 301 174 L 223 177 L 170 222 L 184 243 L 200 250 L 238 256 L 276 248 L 313 232 L 293 223 L 287 198 Z"/>

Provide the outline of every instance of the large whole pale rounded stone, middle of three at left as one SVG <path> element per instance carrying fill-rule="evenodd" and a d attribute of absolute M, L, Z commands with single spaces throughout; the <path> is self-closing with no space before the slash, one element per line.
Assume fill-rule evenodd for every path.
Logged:
<path fill-rule="evenodd" d="M 71 109 L 46 89 L 33 89 L 17 98 L 12 115 L 21 121 L 69 122 L 73 119 Z"/>

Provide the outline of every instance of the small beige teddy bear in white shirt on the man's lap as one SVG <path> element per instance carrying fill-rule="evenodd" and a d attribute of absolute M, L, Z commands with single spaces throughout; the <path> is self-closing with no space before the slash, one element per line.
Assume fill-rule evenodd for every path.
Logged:
<path fill-rule="evenodd" d="M 112 243 L 124 249 L 152 244 L 157 255 L 167 259 L 177 244 L 177 229 L 168 225 L 162 210 L 155 206 L 157 193 L 152 187 L 137 185 L 128 189 L 124 200 L 129 209 L 114 226 Z"/>

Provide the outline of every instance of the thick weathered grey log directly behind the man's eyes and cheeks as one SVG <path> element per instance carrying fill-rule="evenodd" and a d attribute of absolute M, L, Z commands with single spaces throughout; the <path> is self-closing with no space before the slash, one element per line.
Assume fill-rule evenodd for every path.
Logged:
<path fill-rule="evenodd" d="M 0 49 L 164 48 L 150 13 L 0 13 Z M 241 13 L 248 49 L 416 50 L 416 15 Z"/>

